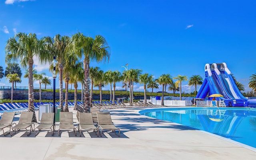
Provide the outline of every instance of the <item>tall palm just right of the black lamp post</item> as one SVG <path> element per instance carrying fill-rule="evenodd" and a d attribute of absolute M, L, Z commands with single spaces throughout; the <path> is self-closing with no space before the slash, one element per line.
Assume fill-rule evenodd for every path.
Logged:
<path fill-rule="evenodd" d="M 54 38 L 52 37 L 44 37 L 46 41 L 45 48 L 48 50 L 48 54 L 50 58 L 48 59 L 49 62 L 52 62 L 53 57 L 56 57 L 57 64 L 56 64 L 56 73 L 59 73 L 59 83 L 60 83 L 60 105 L 61 111 L 64 111 L 63 107 L 63 69 L 66 62 L 66 55 L 69 52 L 69 45 L 70 45 L 70 37 L 68 36 L 61 36 L 59 34 L 55 35 Z"/>

